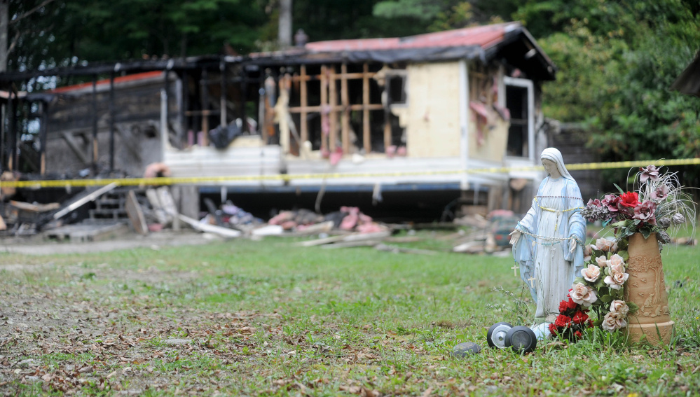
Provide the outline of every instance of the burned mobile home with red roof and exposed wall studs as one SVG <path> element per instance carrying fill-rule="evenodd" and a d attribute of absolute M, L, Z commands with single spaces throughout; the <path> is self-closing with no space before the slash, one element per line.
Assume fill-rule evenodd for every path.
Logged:
<path fill-rule="evenodd" d="M 245 57 L 11 72 L 0 75 L 4 90 L 40 76 L 62 87 L 6 92 L 1 160 L 64 177 L 140 176 L 153 162 L 172 176 L 249 176 L 199 186 L 219 195 L 223 184 L 242 207 L 313 207 L 319 193 L 395 207 L 447 193 L 519 211 L 539 172 L 465 171 L 537 164 L 547 147 L 541 84 L 554 74 L 517 22 Z M 29 160 L 22 153 L 32 145 Z M 269 178 L 279 175 L 289 180 Z"/>

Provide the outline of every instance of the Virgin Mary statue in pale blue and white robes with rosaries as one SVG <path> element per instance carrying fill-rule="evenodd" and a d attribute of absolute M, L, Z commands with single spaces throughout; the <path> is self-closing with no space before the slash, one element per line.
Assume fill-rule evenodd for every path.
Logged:
<path fill-rule="evenodd" d="M 537 302 L 536 319 L 554 322 L 583 268 L 586 220 L 581 190 L 556 148 L 542 151 L 547 177 L 540 183 L 533 206 L 511 233 L 513 257 L 523 281 Z"/>

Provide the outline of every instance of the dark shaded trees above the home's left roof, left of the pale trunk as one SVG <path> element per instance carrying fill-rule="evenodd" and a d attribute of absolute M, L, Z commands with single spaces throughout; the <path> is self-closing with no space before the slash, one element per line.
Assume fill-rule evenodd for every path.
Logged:
<path fill-rule="evenodd" d="M 263 0 L 55 0 L 11 22 L 8 70 L 255 48 Z M 43 1 L 11 0 L 11 21 Z"/>

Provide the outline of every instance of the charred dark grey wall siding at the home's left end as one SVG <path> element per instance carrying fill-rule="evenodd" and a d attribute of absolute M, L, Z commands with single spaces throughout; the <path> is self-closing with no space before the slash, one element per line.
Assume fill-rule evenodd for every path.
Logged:
<path fill-rule="evenodd" d="M 161 72 L 144 78 L 115 79 L 114 103 L 109 82 L 56 90 L 48 106 L 46 169 L 51 173 L 76 175 L 82 169 L 108 171 L 111 160 L 111 128 L 114 114 L 114 169 L 130 176 L 143 174 L 146 165 L 160 161 Z M 177 127 L 178 93 L 174 74 L 168 83 L 170 128 Z M 96 112 L 95 112 L 96 111 Z M 114 113 L 112 113 L 114 112 Z M 95 120 L 96 119 L 96 120 Z M 93 139 L 97 125 L 97 141 Z M 177 140 L 177 139 L 176 139 Z"/>

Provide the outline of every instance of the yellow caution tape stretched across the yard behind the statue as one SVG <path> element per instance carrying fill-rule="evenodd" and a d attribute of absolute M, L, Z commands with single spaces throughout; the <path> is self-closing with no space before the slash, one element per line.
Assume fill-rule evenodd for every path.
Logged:
<path fill-rule="evenodd" d="M 674 160 L 636 160 L 620 162 L 588 162 L 570 164 L 566 168 L 570 170 L 581 169 L 612 169 L 646 167 L 647 165 L 700 165 L 700 158 L 682 158 Z M 493 167 L 450 169 L 445 171 L 416 171 L 416 172 L 354 172 L 354 173 L 330 173 L 330 174 L 275 174 L 252 176 L 188 176 L 179 178 L 108 178 L 108 179 L 57 179 L 50 181 L 0 181 L 0 188 L 67 188 L 85 186 L 104 186 L 116 183 L 118 186 L 139 185 L 195 185 L 200 183 L 224 183 L 233 181 L 292 181 L 294 179 L 341 179 L 341 178 L 378 178 L 387 176 L 420 176 L 420 175 L 446 175 L 446 174 L 500 174 L 514 171 L 542 171 L 542 166 L 530 167 Z"/>

